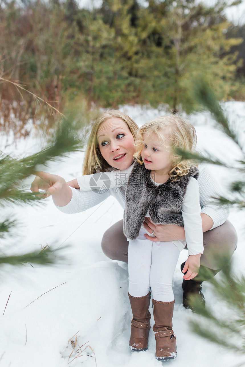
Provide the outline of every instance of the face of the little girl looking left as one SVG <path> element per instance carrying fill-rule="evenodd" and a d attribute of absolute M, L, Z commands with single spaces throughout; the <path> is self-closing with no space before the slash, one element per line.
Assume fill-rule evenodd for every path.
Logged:
<path fill-rule="evenodd" d="M 165 139 L 159 139 L 156 134 L 144 135 L 144 146 L 141 157 L 147 170 L 158 174 L 168 174 L 172 167 L 171 148 Z"/>

